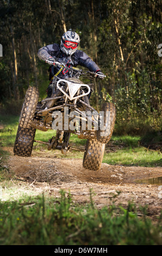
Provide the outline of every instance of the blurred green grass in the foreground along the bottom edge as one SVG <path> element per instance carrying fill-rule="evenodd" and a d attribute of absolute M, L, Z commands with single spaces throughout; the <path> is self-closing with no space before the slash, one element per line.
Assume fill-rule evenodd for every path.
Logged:
<path fill-rule="evenodd" d="M 161 217 L 152 224 L 146 208 L 135 205 L 98 210 L 73 202 L 63 190 L 59 198 L 44 195 L 15 202 L 0 201 L 0 245 L 161 245 Z"/>

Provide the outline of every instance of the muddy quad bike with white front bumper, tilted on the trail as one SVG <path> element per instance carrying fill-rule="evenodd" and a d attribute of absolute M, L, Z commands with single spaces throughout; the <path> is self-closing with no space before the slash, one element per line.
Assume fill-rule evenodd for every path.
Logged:
<path fill-rule="evenodd" d="M 69 145 L 70 135 L 74 133 L 80 139 L 87 139 L 83 150 L 83 167 L 97 170 L 101 167 L 105 144 L 114 130 L 115 106 L 111 102 L 104 103 L 102 115 L 90 106 L 92 84 L 84 84 L 79 77 L 94 78 L 97 76 L 95 72 L 67 67 L 60 62 L 46 62 L 58 66 L 60 70 L 67 70 L 68 78 L 65 80 L 54 76 L 52 95 L 41 102 L 38 102 L 38 88 L 28 88 L 20 114 L 14 154 L 30 156 L 34 142 L 47 144 L 48 150 L 59 149 L 63 154 L 70 149 L 82 151 Z M 56 135 L 48 142 L 36 141 L 36 129 L 56 130 Z"/>

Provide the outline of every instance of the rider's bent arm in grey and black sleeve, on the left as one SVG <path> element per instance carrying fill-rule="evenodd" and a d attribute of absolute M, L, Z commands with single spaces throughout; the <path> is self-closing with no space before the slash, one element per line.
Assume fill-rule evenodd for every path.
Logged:
<path fill-rule="evenodd" d="M 45 60 L 49 57 L 55 57 L 55 53 L 59 50 L 58 44 L 46 45 L 39 49 L 38 57 L 39 59 Z"/>

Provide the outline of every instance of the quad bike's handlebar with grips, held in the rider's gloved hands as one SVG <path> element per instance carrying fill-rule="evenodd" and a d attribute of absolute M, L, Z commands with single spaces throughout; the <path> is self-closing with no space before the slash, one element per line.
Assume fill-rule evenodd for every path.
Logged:
<path fill-rule="evenodd" d="M 59 66 L 60 68 L 65 68 L 66 70 L 68 71 L 74 71 L 77 73 L 79 73 L 79 75 L 81 74 L 89 74 L 93 77 L 97 77 L 98 74 L 96 72 L 91 72 L 91 71 L 83 71 L 82 69 L 78 69 L 78 68 L 74 68 L 73 66 L 69 66 L 67 67 L 64 63 L 60 63 L 60 62 L 52 62 L 51 60 L 46 60 L 46 63 L 48 63 L 49 65 L 53 65 L 53 66 Z M 105 75 L 99 75 L 99 76 L 102 76 L 102 77 L 106 77 Z"/>

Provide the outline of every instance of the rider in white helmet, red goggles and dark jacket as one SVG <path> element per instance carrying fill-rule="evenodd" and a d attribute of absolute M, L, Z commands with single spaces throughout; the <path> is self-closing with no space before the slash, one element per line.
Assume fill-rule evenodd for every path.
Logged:
<path fill-rule="evenodd" d="M 77 65 L 85 66 L 92 72 L 97 73 L 97 77 L 103 79 L 104 74 L 92 59 L 83 51 L 78 50 L 80 38 L 76 32 L 67 31 L 61 37 L 61 44 L 46 45 L 39 49 L 38 57 L 42 60 L 51 60 L 52 62 L 64 62 L 67 67 Z M 68 77 L 68 71 L 60 69 L 57 66 L 50 66 L 49 68 L 49 86 L 47 88 L 47 97 L 52 94 L 52 79 L 53 76 L 59 75 L 59 78 L 65 79 Z"/>

